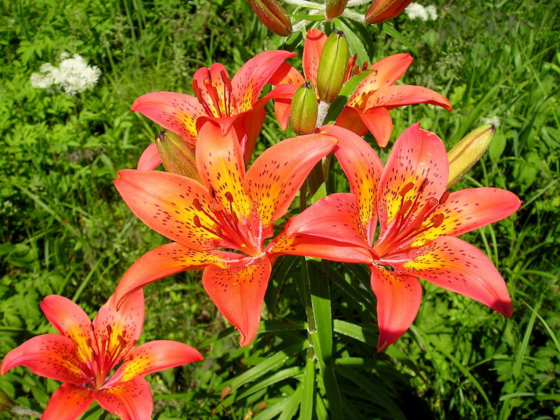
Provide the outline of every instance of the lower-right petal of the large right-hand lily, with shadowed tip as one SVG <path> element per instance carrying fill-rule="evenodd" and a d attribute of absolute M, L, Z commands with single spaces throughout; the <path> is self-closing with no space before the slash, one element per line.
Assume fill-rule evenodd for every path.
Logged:
<path fill-rule="evenodd" d="M 391 262 L 395 270 L 418 276 L 437 286 L 470 297 L 511 316 L 513 307 L 505 281 L 486 255 L 455 237 L 439 237 L 415 248 L 402 260 Z"/>

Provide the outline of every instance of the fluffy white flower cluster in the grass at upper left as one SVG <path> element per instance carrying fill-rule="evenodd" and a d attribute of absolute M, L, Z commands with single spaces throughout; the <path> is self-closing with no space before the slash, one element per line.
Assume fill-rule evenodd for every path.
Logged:
<path fill-rule="evenodd" d="M 48 89 L 53 84 L 63 89 L 67 94 L 76 94 L 94 86 L 101 76 L 97 66 L 89 66 L 81 55 L 70 57 L 62 52 L 58 66 L 45 63 L 39 69 L 40 73 L 33 73 L 29 80 L 31 86 Z"/>

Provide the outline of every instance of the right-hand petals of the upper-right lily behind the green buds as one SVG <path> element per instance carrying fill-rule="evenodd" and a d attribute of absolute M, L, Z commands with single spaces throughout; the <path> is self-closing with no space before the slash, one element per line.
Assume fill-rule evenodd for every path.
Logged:
<path fill-rule="evenodd" d="M 372 73 L 356 87 L 335 125 L 359 136 L 369 130 L 377 144 L 385 147 L 393 132 L 389 110 L 405 105 L 432 104 L 451 111 L 449 101 L 427 87 L 395 85 L 411 63 L 409 54 L 394 54 L 368 67 Z"/>

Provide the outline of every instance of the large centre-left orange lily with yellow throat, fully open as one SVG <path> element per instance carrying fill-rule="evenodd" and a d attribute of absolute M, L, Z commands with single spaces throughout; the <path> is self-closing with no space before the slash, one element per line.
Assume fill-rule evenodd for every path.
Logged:
<path fill-rule="evenodd" d="M 273 223 L 286 213 L 307 174 L 336 141 L 325 134 L 281 141 L 245 172 L 237 132 L 223 134 L 209 121 L 197 139 L 200 183 L 167 172 L 120 171 L 115 185 L 128 207 L 174 242 L 134 262 L 117 286 L 118 304 L 164 276 L 204 269 L 205 290 L 239 330 L 239 344 L 249 344 L 258 330 L 275 259 L 272 248 L 282 249 L 265 240 L 272 237 Z"/>

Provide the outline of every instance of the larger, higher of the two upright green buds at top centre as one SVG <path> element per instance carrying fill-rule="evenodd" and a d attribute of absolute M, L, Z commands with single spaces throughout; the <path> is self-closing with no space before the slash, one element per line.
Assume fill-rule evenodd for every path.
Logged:
<path fill-rule="evenodd" d="M 342 31 L 330 34 L 323 45 L 317 70 L 317 93 L 321 101 L 330 104 L 338 96 L 349 57 L 348 41 Z"/>

